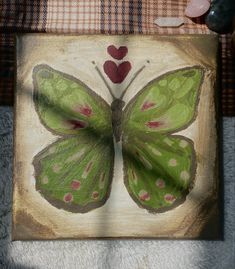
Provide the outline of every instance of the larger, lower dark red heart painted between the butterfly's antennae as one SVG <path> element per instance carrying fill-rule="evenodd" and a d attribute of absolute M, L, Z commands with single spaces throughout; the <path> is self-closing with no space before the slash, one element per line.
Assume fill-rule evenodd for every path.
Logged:
<path fill-rule="evenodd" d="M 103 68 L 113 83 L 122 83 L 131 70 L 131 64 L 130 62 L 123 62 L 117 66 L 113 61 L 106 61 Z"/>

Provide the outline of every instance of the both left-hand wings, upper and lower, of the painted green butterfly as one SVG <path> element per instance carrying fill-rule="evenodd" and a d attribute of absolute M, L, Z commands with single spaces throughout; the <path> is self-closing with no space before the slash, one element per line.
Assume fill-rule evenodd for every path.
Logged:
<path fill-rule="evenodd" d="M 62 136 L 34 157 L 36 189 L 71 212 L 100 207 L 113 177 L 110 107 L 79 80 L 48 66 L 37 66 L 33 79 L 42 124 Z"/>

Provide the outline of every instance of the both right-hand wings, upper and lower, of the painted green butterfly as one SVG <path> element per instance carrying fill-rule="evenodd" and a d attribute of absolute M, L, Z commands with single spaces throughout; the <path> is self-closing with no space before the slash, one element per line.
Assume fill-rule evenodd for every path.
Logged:
<path fill-rule="evenodd" d="M 152 212 L 185 200 L 195 177 L 193 142 L 179 135 L 196 116 L 203 70 L 188 67 L 149 83 L 123 116 L 125 185 L 136 203 Z"/>

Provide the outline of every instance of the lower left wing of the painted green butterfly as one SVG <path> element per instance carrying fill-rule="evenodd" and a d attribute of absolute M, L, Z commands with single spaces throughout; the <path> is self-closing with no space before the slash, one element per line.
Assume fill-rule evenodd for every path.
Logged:
<path fill-rule="evenodd" d="M 59 139 L 35 156 L 36 189 L 57 208 L 85 213 L 109 197 L 114 166 L 112 137 L 80 134 Z"/>

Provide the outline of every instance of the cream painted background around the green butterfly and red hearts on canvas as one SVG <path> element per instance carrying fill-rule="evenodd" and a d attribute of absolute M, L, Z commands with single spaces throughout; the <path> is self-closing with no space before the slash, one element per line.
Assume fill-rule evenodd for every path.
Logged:
<path fill-rule="evenodd" d="M 200 52 L 190 43 L 190 37 L 178 38 L 178 42 L 182 42 L 182 47 L 176 46 L 172 41 L 174 38 L 144 36 L 63 37 L 30 34 L 18 38 L 14 223 L 18 223 L 17 212 L 23 209 L 37 222 L 52 229 L 52 234 L 41 235 L 41 238 L 197 236 L 205 218 L 201 220 L 196 231 L 190 234 L 188 230 L 191 224 L 201 216 L 202 203 L 214 195 L 216 188 L 214 85 L 210 79 L 214 75 L 215 57 L 209 57 L 205 62 L 205 58 L 203 59 Z M 110 198 L 104 206 L 89 213 L 74 214 L 59 210 L 35 191 L 32 159 L 58 137 L 52 135 L 40 124 L 34 109 L 33 67 L 44 63 L 73 75 L 110 103 L 111 98 L 107 89 L 91 63 L 95 61 L 102 70 L 103 62 L 111 59 L 106 52 L 110 44 L 116 47 L 126 45 L 129 52 L 124 60 L 129 60 L 132 64 L 130 73 L 121 85 L 114 85 L 107 79 L 117 96 L 121 89 L 125 88 L 125 84 L 132 78 L 134 72 L 145 64 L 146 60 L 150 60 L 150 64 L 136 78 L 126 94 L 126 102 L 146 83 L 167 71 L 196 64 L 206 68 L 198 116 L 192 125 L 178 133 L 189 137 L 195 143 L 198 158 L 195 186 L 185 203 L 166 213 L 150 214 L 135 204 L 123 183 L 120 158 L 115 161 Z M 33 234 L 34 231 L 31 232 Z M 17 230 L 13 237 L 17 239 Z"/>

